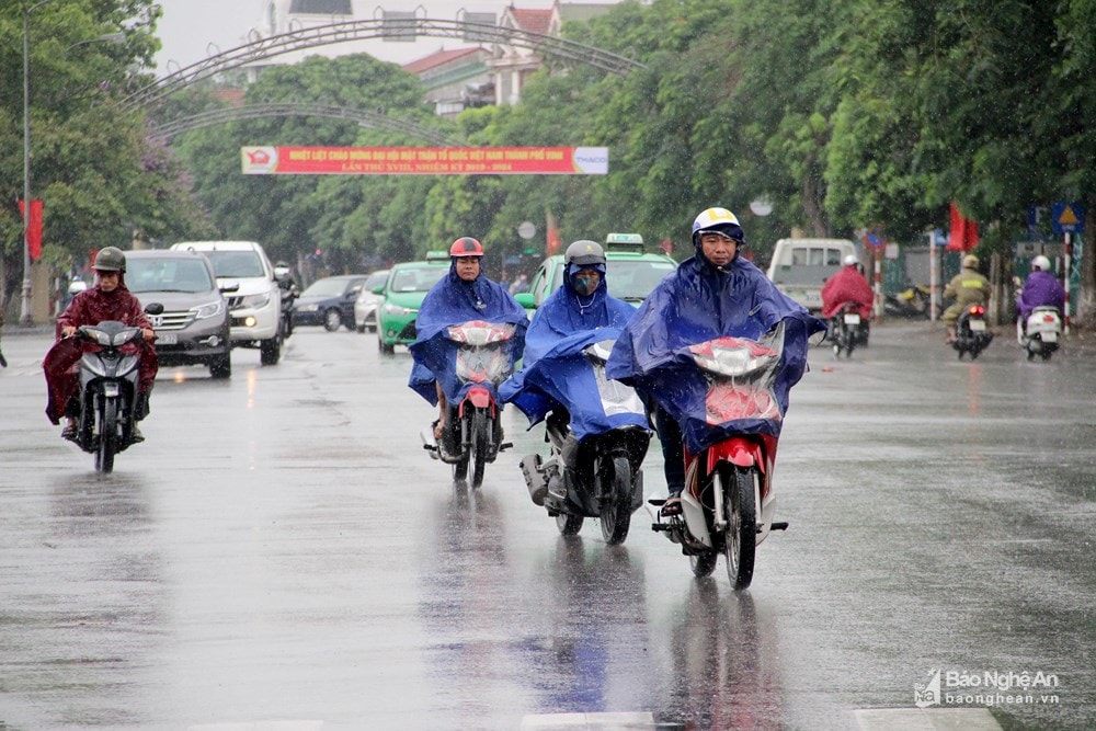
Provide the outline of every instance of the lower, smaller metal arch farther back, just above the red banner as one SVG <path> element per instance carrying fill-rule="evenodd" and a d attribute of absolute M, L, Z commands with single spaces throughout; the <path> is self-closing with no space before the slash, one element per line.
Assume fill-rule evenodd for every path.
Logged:
<path fill-rule="evenodd" d="M 379 112 L 368 112 L 365 110 L 354 110 L 345 106 L 331 106 L 328 104 L 305 104 L 296 102 L 248 104 L 246 106 L 233 106 L 220 110 L 201 112 L 193 116 L 180 117 L 169 123 L 157 125 L 153 129 L 157 137 L 170 142 L 171 138 L 184 132 L 212 127 L 227 122 L 238 122 L 241 119 L 260 119 L 265 117 L 288 117 L 288 116 L 313 116 L 328 117 L 331 119 L 346 119 L 355 122 L 366 127 L 379 127 L 404 132 L 420 139 L 424 139 L 435 145 L 457 146 L 460 140 L 454 140 L 439 132 L 429 129 L 410 119 L 391 117 Z"/>

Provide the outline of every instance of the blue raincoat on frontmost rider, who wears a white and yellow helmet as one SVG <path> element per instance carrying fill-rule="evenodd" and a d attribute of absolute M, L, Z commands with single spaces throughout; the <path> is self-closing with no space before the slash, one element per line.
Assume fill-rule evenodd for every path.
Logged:
<path fill-rule="evenodd" d="M 825 325 L 742 256 L 735 256 L 722 271 L 699 253 L 682 262 L 625 327 L 606 375 L 635 386 L 665 409 L 681 425 L 692 454 L 733 434 L 779 436 L 783 419 L 708 424 L 708 384 L 688 346 L 726 335 L 758 340 L 781 321 L 784 351 L 774 392 L 784 414 L 788 392 L 807 367 L 808 339 Z"/>

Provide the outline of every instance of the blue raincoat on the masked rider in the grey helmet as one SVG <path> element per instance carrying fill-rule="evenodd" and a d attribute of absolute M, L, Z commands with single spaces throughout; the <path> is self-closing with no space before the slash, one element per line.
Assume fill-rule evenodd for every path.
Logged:
<path fill-rule="evenodd" d="M 569 281 L 574 271 L 568 267 Z M 524 367 L 502 384 L 500 398 L 514 403 L 530 429 L 561 404 L 580 441 L 628 424 L 646 427 L 642 410 L 637 414 L 625 408 L 629 396 L 636 400 L 635 393 L 607 381 L 582 353 L 593 343 L 616 340 L 635 313 L 636 308 L 608 294 L 604 276 L 590 297 L 580 297 L 570 285 L 560 287 L 534 313 Z"/>

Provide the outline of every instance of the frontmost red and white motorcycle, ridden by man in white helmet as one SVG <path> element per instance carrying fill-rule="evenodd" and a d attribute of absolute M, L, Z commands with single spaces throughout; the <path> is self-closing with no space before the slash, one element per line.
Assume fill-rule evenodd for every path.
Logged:
<path fill-rule="evenodd" d="M 779 430 L 766 426 L 784 419 L 777 380 L 787 327 L 781 322 L 757 341 L 723 336 L 687 349 L 693 378 L 705 385 L 703 401 L 686 407 L 695 414 L 692 429 L 712 431 L 696 453 L 686 435 L 681 514 L 663 515 L 664 499 L 648 501 L 651 527 L 681 546 L 693 573 L 710 575 L 722 555 L 735 590 L 750 586 L 757 546 L 773 530 L 788 527 L 773 519 Z"/>

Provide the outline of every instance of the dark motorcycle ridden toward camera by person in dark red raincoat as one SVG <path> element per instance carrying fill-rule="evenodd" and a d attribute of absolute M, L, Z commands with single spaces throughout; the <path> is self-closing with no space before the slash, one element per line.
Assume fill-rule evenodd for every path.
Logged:
<path fill-rule="evenodd" d="M 159 311 L 157 311 L 159 308 Z M 159 315 L 160 305 L 149 305 L 145 311 Z M 130 328 L 115 320 L 77 328 L 76 338 L 98 345 L 80 356 L 80 415 L 77 422 L 77 446 L 95 455 L 95 471 L 114 471 L 114 457 L 134 443 L 135 407 L 140 366 L 140 328 Z"/>

